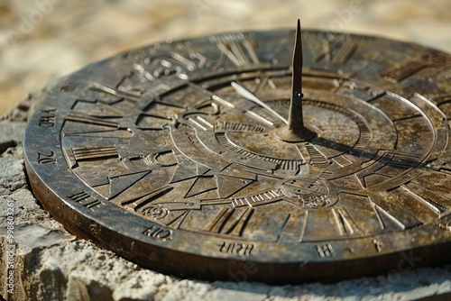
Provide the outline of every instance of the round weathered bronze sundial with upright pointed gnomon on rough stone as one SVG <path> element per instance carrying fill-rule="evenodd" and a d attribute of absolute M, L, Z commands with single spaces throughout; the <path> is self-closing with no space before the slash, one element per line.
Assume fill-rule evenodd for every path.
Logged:
<path fill-rule="evenodd" d="M 46 87 L 26 169 L 70 232 L 181 277 L 443 264 L 450 78 L 441 51 L 299 23 L 155 43 Z"/>

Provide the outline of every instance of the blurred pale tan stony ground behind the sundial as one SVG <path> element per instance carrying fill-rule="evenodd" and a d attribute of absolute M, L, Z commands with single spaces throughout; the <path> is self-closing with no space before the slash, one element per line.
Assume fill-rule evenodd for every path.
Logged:
<path fill-rule="evenodd" d="M 212 32 L 303 28 L 451 51 L 448 0 L 0 0 L 0 117 L 51 78 L 121 50 Z"/>

